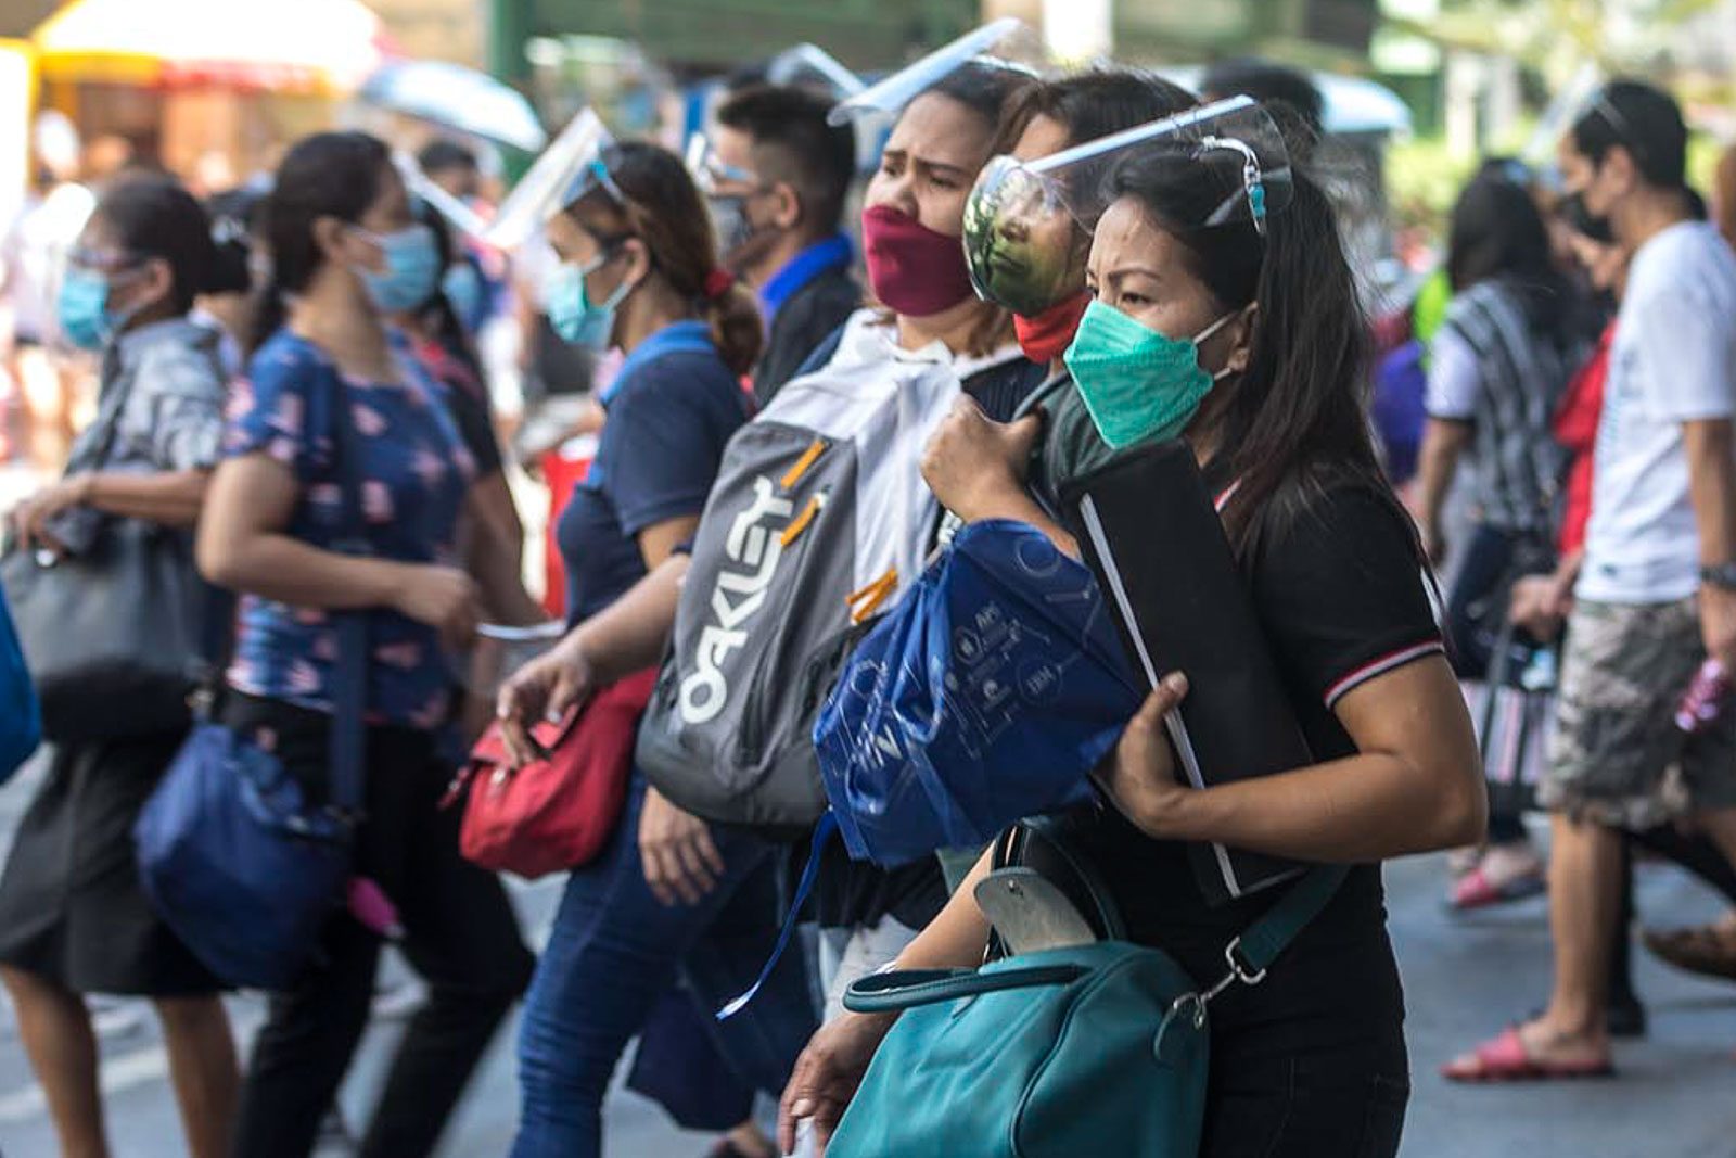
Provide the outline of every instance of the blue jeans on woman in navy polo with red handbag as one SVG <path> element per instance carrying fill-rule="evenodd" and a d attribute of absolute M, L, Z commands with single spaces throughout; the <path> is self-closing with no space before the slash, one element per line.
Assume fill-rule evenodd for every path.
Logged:
<path fill-rule="evenodd" d="M 778 849 L 745 832 L 712 830 L 727 872 L 698 905 L 658 903 L 639 861 L 644 793 L 635 774 L 609 845 L 566 882 L 519 1030 L 512 1158 L 599 1155 L 609 1078 L 677 972 L 717 1009 L 753 983 L 778 938 Z M 781 1094 L 816 1028 L 800 950 L 783 955 L 753 1003 L 713 1026 L 741 1078 Z"/>

